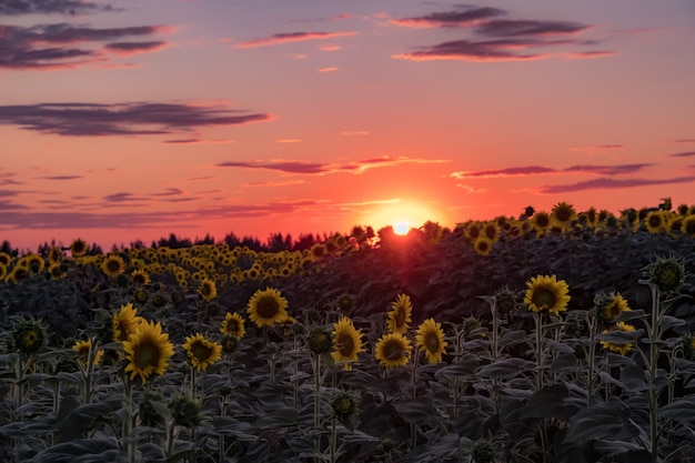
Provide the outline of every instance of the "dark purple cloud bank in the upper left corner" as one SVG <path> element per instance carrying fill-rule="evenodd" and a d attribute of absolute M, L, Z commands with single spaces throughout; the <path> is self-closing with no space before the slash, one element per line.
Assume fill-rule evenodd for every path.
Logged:
<path fill-rule="evenodd" d="M 60 69 L 89 62 L 104 61 L 107 57 L 90 48 L 93 42 L 168 32 L 167 26 L 94 29 L 67 23 L 33 27 L 0 24 L 0 68 Z M 61 47 L 85 43 L 85 47 Z M 112 52 L 142 52 L 161 49 L 162 41 L 113 42 L 103 49 Z"/>

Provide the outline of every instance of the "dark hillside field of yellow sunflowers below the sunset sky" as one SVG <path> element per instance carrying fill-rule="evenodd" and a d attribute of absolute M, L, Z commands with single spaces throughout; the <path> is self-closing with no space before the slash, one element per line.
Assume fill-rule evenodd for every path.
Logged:
<path fill-rule="evenodd" d="M 0 462 L 695 461 L 694 205 L 165 244 L 3 245 Z"/>

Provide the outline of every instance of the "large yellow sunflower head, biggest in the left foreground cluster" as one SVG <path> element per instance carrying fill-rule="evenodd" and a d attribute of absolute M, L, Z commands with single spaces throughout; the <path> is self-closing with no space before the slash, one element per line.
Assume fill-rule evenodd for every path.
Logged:
<path fill-rule="evenodd" d="M 162 325 L 157 322 L 142 322 L 128 341 L 123 341 L 125 372 L 131 372 L 130 379 L 140 375 L 142 382 L 154 374 L 164 374 L 169 366 L 169 359 L 174 354 L 174 348 L 169 342 L 169 334 L 162 333 Z"/>

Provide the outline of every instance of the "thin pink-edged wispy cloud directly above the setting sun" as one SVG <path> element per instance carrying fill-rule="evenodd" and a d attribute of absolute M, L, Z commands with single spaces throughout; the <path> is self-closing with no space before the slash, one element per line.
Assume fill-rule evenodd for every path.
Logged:
<path fill-rule="evenodd" d="M 385 168 L 405 163 L 441 163 L 447 160 L 382 157 L 346 163 L 321 163 L 291 160 L 274 161 L 228 161 L 215 164 L 219 168 L 262 169 L 294 174 L 328 174 L 336 172 L 362 173 L 367 169 Z"/>

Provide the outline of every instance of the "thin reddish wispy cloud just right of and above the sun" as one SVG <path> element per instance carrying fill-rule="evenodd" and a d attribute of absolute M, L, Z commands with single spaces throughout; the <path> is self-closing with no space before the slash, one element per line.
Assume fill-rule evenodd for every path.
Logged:
<path fill-rule="evenodd" d="M 482 171 L 460 171 L 450 175 L 455 179 L 490 179 L 498 177 L 522 177 L 522 175 L 547 175 L 560 173 L 592 173 L 602 175 L 620 175 L 633 173 L 654 165 L 652 163 L 617 164 L 617 165 L 572 165 L 565 169 L 546 168 L 542 165 L 524 165 L 517 168 L 506 168 Z"/>

